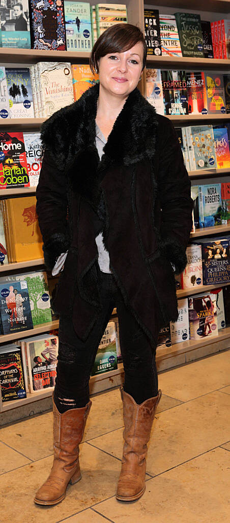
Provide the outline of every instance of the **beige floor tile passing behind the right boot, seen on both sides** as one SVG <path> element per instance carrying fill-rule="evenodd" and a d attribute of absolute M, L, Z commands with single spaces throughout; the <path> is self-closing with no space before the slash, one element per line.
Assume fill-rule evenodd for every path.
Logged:
<path fill-rule="evenodd" d="M 217 391 L 156 413 L 147 472 L 159 474 L 228 441 L 229 408 L 229 395 Z M 91 443 L 121 459 L 122 433 L 118 429 Z"/>

